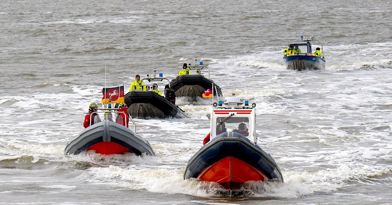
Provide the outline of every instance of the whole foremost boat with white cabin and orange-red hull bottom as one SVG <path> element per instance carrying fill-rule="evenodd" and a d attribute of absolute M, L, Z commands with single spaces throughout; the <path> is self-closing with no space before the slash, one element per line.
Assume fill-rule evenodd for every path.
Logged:
<path fill-rule="evenodd" d="M 255 107 L 236 96 L 226 97 L 223 104 L 214 103 L 211 141 L 191 157 L 184 179 L 216 182 L 230 190 L 240 189 L 248 181 L 283 182 L 275 160 L 257 145 Z"/>

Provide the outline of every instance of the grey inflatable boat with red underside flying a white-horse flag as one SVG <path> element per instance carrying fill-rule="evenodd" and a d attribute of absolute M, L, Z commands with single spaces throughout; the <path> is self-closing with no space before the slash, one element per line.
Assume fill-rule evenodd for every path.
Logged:
<path fill-rule="evenodd" d="M 123 100 L 123 86 L 121 86 L 120 89 L 117 87 L 117 89 L 117 92 L 114 93 L 117 93 L 117 96 L 118 93 L 122 93 L 122 95 L 120 94 L 120 97 L 116 97 L 116 100 L 118 99 L 117 102 L 121 102 L 120 98 Z M 104 98 L 109 99 L 109 97 Z M 67 143 L 64 151 L 65 154 L 78 154 L 88 150 L 94 150 L 96 153 L 103 155 L 121 153 L 134 153 L 135 155 L 142 155 L 142 153 L 145 153 L 145 155 L 155 155 L 149 142 L 136 132 L 136 124 L 132 117 L 129 117 L 129 121 L 132 121 L 133 130 L 113 121 L 111 116 L 121 113 L 117 108 L 111 108 L 111 105 L 115 103 L 116 100 L 113 99 L 113 101 L 107 102 L 108 104 L 103 103 L 105 106 L 107 105 L 107 108 L 98 109 L 90 114 L 90 126 L 85 128 Z M 94 114 L 98 115 L 94 116 Z M 105 116 L 102 121 L 99 114 Z M 94 123 L 91 125 L 93 116 Z M 117 119 L 119 118 L 117 117 L 115 119 L 118 122 Z M 129 122 L 127 122 L 127 119 L 124 120 L 124 124 L 128 125 Z"/>

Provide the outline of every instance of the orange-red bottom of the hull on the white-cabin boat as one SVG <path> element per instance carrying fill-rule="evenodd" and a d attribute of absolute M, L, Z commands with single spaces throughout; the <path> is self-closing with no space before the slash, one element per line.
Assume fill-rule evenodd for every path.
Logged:
<path fill-rule="evenodd" d="M 266 181 L 267 176 L 232 156 L 212 164 L 198 176 L 199 179 L 221 184 L 225 189 L 238 189 L 247 181 Z"/>

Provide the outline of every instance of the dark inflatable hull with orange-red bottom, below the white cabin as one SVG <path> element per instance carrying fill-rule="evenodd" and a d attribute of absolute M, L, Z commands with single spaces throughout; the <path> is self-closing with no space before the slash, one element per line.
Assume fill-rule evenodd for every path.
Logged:
<path fill-rule="evenodd" d="M 275 160 L 237 132 L 225 132 L 205 144 L 189 160 L 184 179 L 199 178 L 237 189 L 247 181 L 279 180 Z"/>

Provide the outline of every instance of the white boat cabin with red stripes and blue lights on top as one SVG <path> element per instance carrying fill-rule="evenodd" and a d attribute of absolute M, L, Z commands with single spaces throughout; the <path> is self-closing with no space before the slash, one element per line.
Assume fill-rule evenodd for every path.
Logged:
<path fill-rule="evenodd" d="M 249 105 L 241 97 L 226 97 L 224 102 L 213 104 L 211 111 L 211 139 L 223 132 L 238 132 L 252 143 L 257 143 L 256 103 Z"/>

